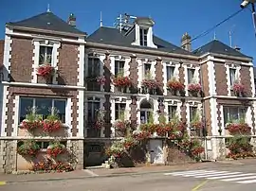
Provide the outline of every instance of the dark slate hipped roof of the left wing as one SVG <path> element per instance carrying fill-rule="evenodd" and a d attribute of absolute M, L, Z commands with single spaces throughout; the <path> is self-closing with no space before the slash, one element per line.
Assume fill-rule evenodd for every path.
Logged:
<path fill-rule="evenodd" d="M 8 26 L 24 26 L 51 31 L 67 32 L 79 35 L 85 35 L 84 32 L 74 26 L 69 26 L 64 20 L 53 14 L 52 12 L 44 12 L 28 19 L 7 23 Z"/>

